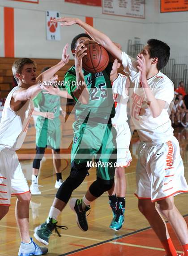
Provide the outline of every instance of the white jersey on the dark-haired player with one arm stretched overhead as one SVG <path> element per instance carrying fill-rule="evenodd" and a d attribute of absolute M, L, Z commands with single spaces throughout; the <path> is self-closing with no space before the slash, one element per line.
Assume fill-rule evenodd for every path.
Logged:
<path fill-rule="evenodd" d="M 173 136 L 173 128 L 168 115 L 168 108 L 174 98 L 174 86 L 172 81 L 162 72 L 147 80 L 155 99 L 166 102 L 158 117 L 153 117 L 145 99 L 144 90 L 140 87 L 140 76 L 137 68 L 137 60 L 124 52 L 121 55 L 124 72 L 131 81 L 129 88 L 129 101 L 132 121 L 137 129 L 141 141 L 160 144 L 170 140 Z"/>

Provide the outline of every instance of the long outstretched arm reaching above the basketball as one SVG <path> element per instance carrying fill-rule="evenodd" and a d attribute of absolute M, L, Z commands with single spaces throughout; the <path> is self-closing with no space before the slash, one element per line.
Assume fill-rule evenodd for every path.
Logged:
<path fill-rule="evenodd" d="M 53 19 L 52 21 L 62 22 L 60 23 L 61 26 L 71 26 L 73 24 L 77 24 L 78 26 L 82 27 L 93 40 L 102 45 L 111 55 L 121 62 L 122 51 L 111 41 L 111 39 L 94 27 L 91 27 L 87 23 L 81 21 L 79 18 L 59 18 Z"/>

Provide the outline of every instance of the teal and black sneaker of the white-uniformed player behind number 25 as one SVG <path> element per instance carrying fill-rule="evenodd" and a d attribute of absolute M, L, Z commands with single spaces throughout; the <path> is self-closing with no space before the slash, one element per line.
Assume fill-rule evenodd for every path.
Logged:
<path fill-rule="evenodd" d="M 111 221 L 110 229 L 118 231 L 122 228 L 124 224 L 124 212 L 125 209 L 122 207 L 122 203 L 118 202 L 117 211 L 115 212 L 115 216 Z"/>

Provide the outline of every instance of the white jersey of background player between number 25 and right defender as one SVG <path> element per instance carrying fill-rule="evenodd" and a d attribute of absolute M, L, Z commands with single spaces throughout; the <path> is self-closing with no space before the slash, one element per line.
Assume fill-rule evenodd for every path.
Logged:
<path fill-rule="evenodd" d="M 115 101 L 115 117 L 111 118 L 112 124 L 120 125 L 126 123 L 128 95 L 126 94 L 125 84 L 127 76 L 118 74 L 115 81 L 112 82 L 112 91 Z"/>

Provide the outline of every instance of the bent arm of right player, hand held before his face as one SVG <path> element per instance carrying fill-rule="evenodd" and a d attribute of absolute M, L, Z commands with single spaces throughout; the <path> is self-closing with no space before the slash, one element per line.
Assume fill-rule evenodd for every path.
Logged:
<path fill-rule="evenodd" d="M 143 54 L 140 54 L 139 57 L 137 57 L 137 62 L 138 62 L 137 68 L 140 71 L 140 83 L 141 83 L 141 87 L 144 90 L 146 103 L 150 108 L 152 116 L 154 118 L 158 117 L 161 114 L 162 109 L 165 108 L 166 102 L 162 99 L 156 99 L 148 85 L 148 82 L 146 79 L 145 58 Z"/>

